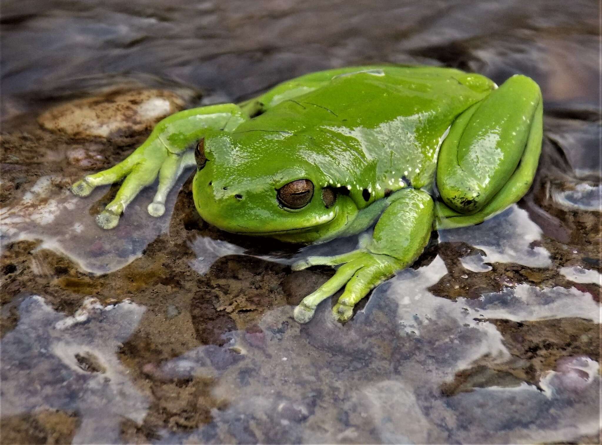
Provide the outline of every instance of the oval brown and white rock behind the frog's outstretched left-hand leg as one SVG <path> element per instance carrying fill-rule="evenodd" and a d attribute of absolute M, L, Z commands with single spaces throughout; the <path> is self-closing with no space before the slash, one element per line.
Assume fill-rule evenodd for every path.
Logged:
<path fill-rule="evenodd" d="M 117 141 L 151 130 L 185 105 L 183 97 L 169 90 L 113 91 L 55 106 L 41 114 L 38 122 L 73 138 Z"/>

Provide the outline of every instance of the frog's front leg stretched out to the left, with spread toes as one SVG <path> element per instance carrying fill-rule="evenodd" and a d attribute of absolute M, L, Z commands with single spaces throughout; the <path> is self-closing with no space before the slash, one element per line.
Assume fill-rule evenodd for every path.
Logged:
<path fill-rule="evenodd" d="M 97 186 L 112 184 L 125 177 L 114 200 L 96 217 L 103 229 L 113 229 L 125 207 L 158 176 L 157 194 L 149 204 L 148 212 L 152 216 L 161 216 L 167 194 L 178 176 L 195 164 L 193 150 L 188 150 L 191 144 L 208 130 L 232 130 L 247 118 L 246 113 L 233 103 L 173 114 L 160 121 L 149 138 L 126 159 L 108 170 L 85 176 L 73 184 L 71 191 L 85 197 Z"/>

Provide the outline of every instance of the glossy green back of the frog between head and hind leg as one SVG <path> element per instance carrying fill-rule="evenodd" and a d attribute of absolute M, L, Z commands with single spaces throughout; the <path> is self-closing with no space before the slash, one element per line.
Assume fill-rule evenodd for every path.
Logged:
<path fill-rule="evenodd" d="M 388 191 L 431 183 L 445 131 L 494 88 L 483 76 L 433 67 L 370 66 L 318 74 L 324 76 L 319 86 L 299 96 L 272 97 L 272 108 L 240 130 L 311 138 L 324 182 L 351 186 L 360 194 L 368 190 L 367 204 Z"/>

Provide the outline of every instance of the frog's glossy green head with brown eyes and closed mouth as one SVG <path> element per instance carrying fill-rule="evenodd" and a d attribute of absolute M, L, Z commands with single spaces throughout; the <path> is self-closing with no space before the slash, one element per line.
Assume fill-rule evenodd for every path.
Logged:
<path fill-rule="evenodd" d="M 331 238 L 358 208 L 327 185 L 312 151 L 308 138 L 279 132 L 206 135 L 195 150 L 194 205 L 226 232 L 287 242 Z"/>

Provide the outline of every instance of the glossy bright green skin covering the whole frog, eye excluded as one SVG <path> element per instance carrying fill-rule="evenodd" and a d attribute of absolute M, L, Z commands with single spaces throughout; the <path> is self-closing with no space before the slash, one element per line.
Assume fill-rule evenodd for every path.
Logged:
<path fill-rule="evenodd" d="M 179 174 L 196 165 L 191 146 L 201 139 L 206 163 L 194 176 L 194 205 L 219 229 L 311 243 L 376 222 L 358 250 L 293 265 L 341 265 L 294 318 L 308 322 L 345 286 L 333 308 L 344 322 L 371 289 L 417 259 L 433 229 L 478 224 L 523 197 L 541 152 L 542 98 L 520 75 L 497 88 L 483 76 L 441 67 L 327 70 L 238 105 L 167 117 L 123 162 L 72 191 L 86 196 L 125 178 L 96 219 L 112 229 L 158 176 L 148 212 L 163 215 Z M 300 179 L 311 181 L 313 194 L 291 209 L 279 190 Z"/>

